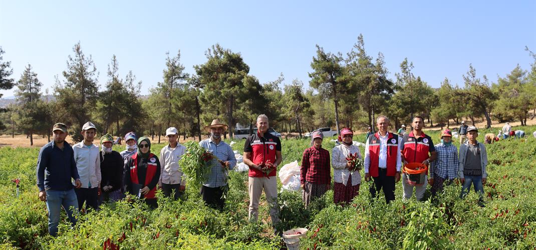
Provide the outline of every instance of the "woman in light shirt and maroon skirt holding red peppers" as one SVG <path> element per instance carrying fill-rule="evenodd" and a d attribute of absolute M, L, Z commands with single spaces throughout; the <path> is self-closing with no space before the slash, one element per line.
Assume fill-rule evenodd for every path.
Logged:
<path fill-rule="evenodd" d="M 353 144 L 354 132 L 349 128 L 343 128 L 340 131 L 343 143 L 335 146 L 331 150 L 331 166 L 333 167 L 333 201 L 335 203 L 350 203 L 355 196 L 359 194 L 359 185 L 361 184 L 361 173 L 359 170 L 350 172 L 351 163 L 346 160 L 350 154 L 361 152 L 358 146 Z"/>

